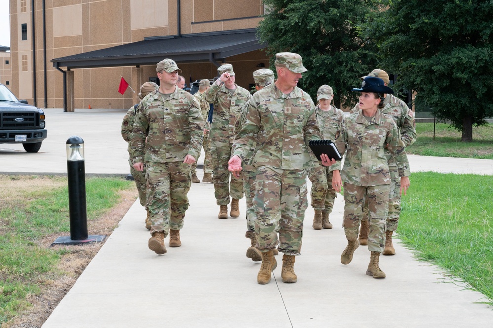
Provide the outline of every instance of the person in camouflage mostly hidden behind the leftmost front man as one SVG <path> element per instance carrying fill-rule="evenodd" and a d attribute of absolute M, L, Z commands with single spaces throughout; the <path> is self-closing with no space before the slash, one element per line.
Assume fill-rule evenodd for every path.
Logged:
<path fill-rule="evenodd" d="M 140 87 L 140 92 L 139 92 L 139 98 L 143 99 L 145 96 L 147 96 L 148 93 L 151 91 L 154 91 L 157 89 L 159 86 L 154 83 L 154 82 L 146 82 L 141 85 Z M 135 120 L 135 114 L 137 113 L 137 106 L 139 104 L 135 104 L 132 106 L 130 109 L 128 109 L 126 115 L 123 117 L 123 122 L 121 123 L 121 136 L 123 139 L 128 144 L 128 154 L 130 157 L 128 158 L 128 164 L 130 164 L 130 174 L 132 174 L 132 177 L 134 177 L 135 185 L 137 186 L 137 190 L 139 191 L 139 201 L 140 205 L 146 207 L 146 229 L 150 230 L 151 229 L 151 222 L 150 222 L 150 215 L 149 215 L 149 208 L 147 207 L 146 203 L 146 169 L 144 168 L 143 171 L 137 171 L 134 169 L 132 165 L 132 155 L 131 155 L 131 149 L 130 149 L 130 140 L 132 139 L 132 128 L 134 126 L 134 120 Z"/>

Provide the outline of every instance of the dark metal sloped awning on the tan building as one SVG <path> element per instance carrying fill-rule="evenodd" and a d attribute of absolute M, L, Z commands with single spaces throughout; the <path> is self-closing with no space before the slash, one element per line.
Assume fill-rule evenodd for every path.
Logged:
<path fill-rule="evenodd" d="M 52 59 L 54 67 L 94 68 L 156 65 L 164 58 L 176 62 L 223 59 L 265 48 L 256 29 L 148 37 L 143 41 Z"/>

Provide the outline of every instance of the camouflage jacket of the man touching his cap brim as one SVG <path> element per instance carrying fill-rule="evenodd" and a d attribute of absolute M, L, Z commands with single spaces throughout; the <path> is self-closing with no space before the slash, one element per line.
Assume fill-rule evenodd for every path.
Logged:
<path fill-rule="evenodd" d="M 212 141 L 233 143 L 234 125 L 250 97 L 250 92 L 240 86 L 236 85 L 231 95 L 224 84 L 219 86 L 216 83 L 204 93 L 205 100 L 214 105 L 214 119 L 209 132 Z"/>

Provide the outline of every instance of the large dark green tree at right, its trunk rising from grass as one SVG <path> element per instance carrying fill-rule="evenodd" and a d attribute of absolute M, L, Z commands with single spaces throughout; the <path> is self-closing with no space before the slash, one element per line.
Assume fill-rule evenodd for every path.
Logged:
<path fill-rule="evenodd" d="M 472 127 L 493 116 L 493 1 L 381 1 L 362 29 L 383 66 L 398 73 L 416 103 L 450 120 L 472 141 Z"/>

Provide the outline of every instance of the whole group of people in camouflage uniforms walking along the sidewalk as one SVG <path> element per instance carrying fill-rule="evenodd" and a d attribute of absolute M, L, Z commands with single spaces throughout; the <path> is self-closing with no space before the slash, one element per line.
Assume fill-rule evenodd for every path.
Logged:
<path fill-rule="evenodd" d="M 192 180 L 198 180 L 196 160 L 203 146 L 203 181 L 214 183 L 218 218 L 228 218 L 229 203 L 229 216 L 238 217 L 238 202 L 245 195 L 245 236 L 251 241 L 246 256 L 262 261 L 259 284 L 271 280 L 279 252 L 283 253 L 283 282 L 297 281 L 294 263 L 300 255 L 308 207 L 307 177 L 312 182 L 316 230 L 332 228 L 329 214 L 344 181 L 343 226 L 348 246 L 341 262 L 348 264 L 354 250 L 368 244 L 372 257 L 367 274 L 385 277 L 377 253 L 395 254 L 391 238 L 400 214 L 400 193 L 409 187 L 404 147 L 416 140 L 412 111 L 392 95 L 383 70 L 362 77 L 362 88 L 353 89 L 362 97 L 374 94 L 375 105 L 366 106 L 369 102 L 360 97 L 352 114 L 345 117 L 331 105 L 330 86 L 319 88 L 316 107 L 310 95 L 297 87 L 307 71 L 301 56 L 278 53 L 275 67 L 277 79 L 269 69 L 253 73 L 257 90 L 253 95 L 235 83 L 231 64 L 218 68 L 219 78 L 212 85 L 201 80 L 193 96 L 177 87 L 181 70 L 170 59 L 157 64 L 159 87 L 152 82 L 142 85 L 142 100 L 125 115 L 122 136 L 129 142 L 131 173 L 147 210 L 149 249 L 166 253 L 168 234 L 170 247 L 181 246 L 187 193 Z M 213 104 L 210 123 L 206 122 L 209 104 Z M 341 154 L 346 152 L 344 168 L 341 161 L 325 154 L 320 161 L 315 158 L 309 141 L 321 139 L 333 140 Z M 376 167 L 378 172 L 373 172 Z M 358 189 L 361 186 L 364 189 Z"/>

